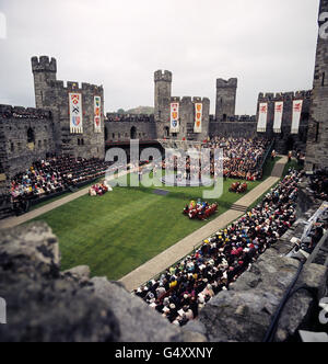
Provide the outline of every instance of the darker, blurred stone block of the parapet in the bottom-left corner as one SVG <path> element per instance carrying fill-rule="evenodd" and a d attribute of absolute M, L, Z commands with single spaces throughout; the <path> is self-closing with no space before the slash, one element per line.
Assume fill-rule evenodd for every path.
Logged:
<path fill-rule="evenodd" d="M 60 277 L 59 244 L 49 227 L 35 224 L 0 237 L 0 296 L 8 325 L 0 341 L 116 341 L 119 323 L 90 288 Z"/>

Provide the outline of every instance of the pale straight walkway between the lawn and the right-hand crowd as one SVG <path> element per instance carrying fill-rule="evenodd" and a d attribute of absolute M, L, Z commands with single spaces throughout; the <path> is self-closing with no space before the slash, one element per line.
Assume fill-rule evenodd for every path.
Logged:
<path fill-rule="evenodd" d="M 280 181 L 286 162 L 288 158 L 282 157 L 276 163 L 276 167 L 272 171 L 272 177 L 269 177 L 266 181 L 251 190 L 244 197 L 238 200 L 235 204 L 245 207 L 251 206 L 251 204 L 254 204 L 258 198 L 260 198 L 263 193 L 266 193 Z M 225 212 L 224 214 L 215 218 L 213 221 L 207 224 L 199 230 L 184 238 L 183 240 L 168 248 L 167 250 L 163 251 L 155 258 L 151 259 L 143 265 L 137 268 L 134 271 L 122 277 L 119 282 L 122 283 L 128 291 L 132 292 L 133 289 L 152 280 L 154 276 L 156 276 L 161 272 L 164 272 L 167 268 L 172 266 L 173 264 L 185 258 L 204 239 L 209 238 L 211 235 L 214 235 L 218 230 L 225 228 L 227 225 L 232 224 L 243 215 L 243 212 L 234 209 Z"/>

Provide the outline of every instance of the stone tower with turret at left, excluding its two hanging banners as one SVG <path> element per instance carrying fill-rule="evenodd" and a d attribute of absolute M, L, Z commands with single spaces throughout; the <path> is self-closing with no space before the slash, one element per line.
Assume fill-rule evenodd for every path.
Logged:
<path fill-rule="evenodd" d="M 56 152 L 82 158 L 104 158 L 104 89 L 102 86 L 58 81 L 55 58 L 42 56 L 32 58 L 32 70 L 37 107 L 51 111 L 54 118 L 54 139 Z M 70 132 L 69 93 L 82 95 L 83 133 Z M 94 96 L 102 98 L 102 130 L 94 130 Z"/>

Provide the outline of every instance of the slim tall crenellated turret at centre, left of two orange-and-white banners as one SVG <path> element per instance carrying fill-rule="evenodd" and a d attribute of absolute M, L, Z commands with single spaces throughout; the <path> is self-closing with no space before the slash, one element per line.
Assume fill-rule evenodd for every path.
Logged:
<path fill-rule="evenodd" d="M 169 105 L 172 95 L 172 72 L 159 70 L 155 82 L 155 122 L 157 138 L 163 138 L 164 129 L 169 127 Z"/>

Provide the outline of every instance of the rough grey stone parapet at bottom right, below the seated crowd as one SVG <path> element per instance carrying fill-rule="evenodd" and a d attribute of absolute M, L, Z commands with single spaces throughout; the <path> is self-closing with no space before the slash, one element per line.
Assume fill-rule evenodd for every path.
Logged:
<path fill-rule="evenodd" d="M 199 322 L 189 322 L 187 329 L 200 332 L 212 342 L 261 342 L 300 266 L 297 260 L 281 255 L 285 243 L 284 239 L 280 240 L 230 291 L 213 297 L 201 310 Z M 306 264 L 295 288 L 311 288 L 315 296 L 321 297 L 326 283 L 327 268 Z M 309 319 L 314 303 L 306 289 L 295 294 L 282 312 L 274 341 L 295 338 L 297 329 Z"/>

